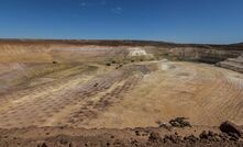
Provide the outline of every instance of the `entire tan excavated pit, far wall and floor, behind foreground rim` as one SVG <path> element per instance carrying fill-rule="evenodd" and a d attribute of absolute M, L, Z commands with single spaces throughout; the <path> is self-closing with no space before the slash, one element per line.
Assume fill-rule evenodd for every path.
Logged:
<path fill-rule="evenodd" d="M 101 43 L 1 42 L 0 127 L 146 127 L 177 116 L 243 124 L 242 74 L 162 60 L 218 63 L 241 48 Z M 134 59 L 131 50 L 153 58 Z"/>

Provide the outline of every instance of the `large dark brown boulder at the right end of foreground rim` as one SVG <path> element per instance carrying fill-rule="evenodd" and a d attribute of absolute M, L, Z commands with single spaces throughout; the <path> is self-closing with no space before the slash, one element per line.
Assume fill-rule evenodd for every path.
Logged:
<path fill-rule="evenodd" d="M 229 121 L 223 122 L 220 125 L 220 131 L 222 133 L 227 133 L 228 135 L 236 134 L 239 137 L 243 137 L 243 129 L 240 126 L 238 126 L 234 123 L 231 123 Z"/>

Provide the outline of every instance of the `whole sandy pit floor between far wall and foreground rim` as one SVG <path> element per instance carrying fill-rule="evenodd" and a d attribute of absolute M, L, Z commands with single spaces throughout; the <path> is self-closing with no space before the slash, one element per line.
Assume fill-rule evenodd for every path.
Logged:
<path fill-rule="evenodd" d="M 147 127 L 177 116 L 194 125 L 243 124 L 243 76 L 210 65 L 152 61 L 117 70 L 80 64 L 9 66 L 0 77 L 2 128 Z"/>

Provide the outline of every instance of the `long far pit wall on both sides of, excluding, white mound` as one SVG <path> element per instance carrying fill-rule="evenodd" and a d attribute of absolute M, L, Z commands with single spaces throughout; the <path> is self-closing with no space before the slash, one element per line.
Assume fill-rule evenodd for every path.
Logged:
<path fill-rule="evenodd" d="M 55 44 L 0 44 L 0 63 L 84 63 L 103 61 L 126 58 L 128 48 L 134 46 L 97 46 Z M 185 46 L 136 46 L 151 54 L 155 59 L 203 61 L 216 64 L 227 58 L 235 58 L 243 54 L 241 49 L 220 47 L 185 47 Z M 151 59 L 151 58 L 150 58 Z"/>

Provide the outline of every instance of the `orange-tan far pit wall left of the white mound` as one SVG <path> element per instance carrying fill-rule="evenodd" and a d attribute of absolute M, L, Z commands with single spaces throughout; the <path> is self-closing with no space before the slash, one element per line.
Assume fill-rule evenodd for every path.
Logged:
<path fill-rule="evenodd" d="M 0 63 L 86 63 L 125 56 L 123 47 L 75 45 L 0 45 Z"/>

